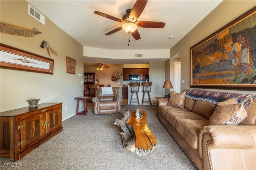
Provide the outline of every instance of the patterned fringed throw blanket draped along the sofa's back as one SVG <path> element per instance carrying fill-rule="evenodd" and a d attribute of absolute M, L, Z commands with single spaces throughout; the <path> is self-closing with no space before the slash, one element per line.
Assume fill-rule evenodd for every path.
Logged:
<path fill-rule="evenodd" d="M 187 89 L 186 97 L 194 100 L 208 101 L 210 103 L 214 103 L 215 105 L 234 97 L 236 98 L 238 103 L 242 103 L 244 105 L 245 109 L 247 109 L 247 107 L 252 104 L 252 101 L 256 99 L 256 95 L 246 95 L 220 91 L 206 91 L 199 89 Z"/>

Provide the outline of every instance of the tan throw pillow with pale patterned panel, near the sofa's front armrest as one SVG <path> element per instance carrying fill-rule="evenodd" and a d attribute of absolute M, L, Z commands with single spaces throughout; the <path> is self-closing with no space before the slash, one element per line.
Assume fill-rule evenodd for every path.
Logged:
<path fill-rule="evenodd" d="M 209 125 L 238 125 L 247 117 L 242 103 L 235 98 L 220 102 L 209 120 Z"/>

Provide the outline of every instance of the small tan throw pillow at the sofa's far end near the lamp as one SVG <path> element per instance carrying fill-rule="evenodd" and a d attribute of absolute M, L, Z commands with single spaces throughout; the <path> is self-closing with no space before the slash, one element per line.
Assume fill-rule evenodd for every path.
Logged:
<path fill-rule="evenodd" d="M 183 91 L 181 93 L 176 93 L 175 91 L 172 91 L 167 106 L 173 106 L 183 109 L 185 97 L 186 91 Z"/>

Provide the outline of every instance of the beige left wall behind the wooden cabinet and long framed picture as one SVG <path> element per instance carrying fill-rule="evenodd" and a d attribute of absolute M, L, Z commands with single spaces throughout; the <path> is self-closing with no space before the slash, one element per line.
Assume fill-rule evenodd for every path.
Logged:
<path fill-rule="evenodd" d="M 0 69 L 1 94 L 0 111 L 8 111 L 29 106 L 26 100 L 40 99 L 38 104 L 46 102 L 63 102 L 62 117 L 66 119 L 75 114 L 74 97 L 83 95 L 84 72 L 83 46 L 68 36 L 58 26 L 46 18 L 46 25 L 41 24 L 28 14 L 26 1 L 0 1 L 1 21 L 24 28 L 37 28 L 42 34 L 34 38 L 14 36 L 1 33 L 1 43 L 23 49 L 44 57 L 49 57 L 47 50 L 40 47 L 42 40 L 50 43 L 58 57 L 54 59 L 54 74 L 33 73 L 12 69 Z M 76 60 L 76 74 L 66 73 L 66 56 Z M 67 110 L 64 111 L 64 107 Z M 80 108 L 82 109 L 82 108 Z"/>

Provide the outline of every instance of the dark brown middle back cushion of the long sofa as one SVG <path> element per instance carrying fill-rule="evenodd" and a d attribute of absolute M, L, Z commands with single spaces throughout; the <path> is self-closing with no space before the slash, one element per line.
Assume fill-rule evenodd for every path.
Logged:
<path fill-rule="evenodd" d="M 209 120 L 215 108 L 216 105 L 213 103 L 196 100 L 192 108 L 192 112 L 202 115 Z"/>

